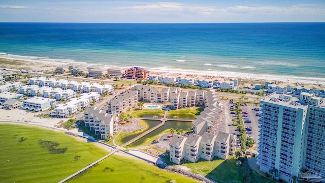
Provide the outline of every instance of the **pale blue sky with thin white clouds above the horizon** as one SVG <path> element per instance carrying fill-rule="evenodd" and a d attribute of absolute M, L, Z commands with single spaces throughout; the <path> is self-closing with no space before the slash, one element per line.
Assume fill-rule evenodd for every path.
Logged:
<path fill-rule="evenodd" d="M 325 1 L 1 0 L 0 22 L 325 22 Z"/>

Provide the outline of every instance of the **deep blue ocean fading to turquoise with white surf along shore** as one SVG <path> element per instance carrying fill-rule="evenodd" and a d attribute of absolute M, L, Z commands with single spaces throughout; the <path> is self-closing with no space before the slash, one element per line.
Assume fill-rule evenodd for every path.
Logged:
<path fill-rule="evenodd" d="M 325 23 L 0 23 L 0 58 L 315 81 Z"/>

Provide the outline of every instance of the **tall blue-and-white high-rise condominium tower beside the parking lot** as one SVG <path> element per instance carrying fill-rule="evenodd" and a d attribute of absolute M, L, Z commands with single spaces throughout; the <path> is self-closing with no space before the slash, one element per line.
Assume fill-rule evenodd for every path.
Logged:
<path fill-rule="evenodd" d="M 323 101 L 323 96 L 309 93 L 273 93 L 260 100 L 257 164 L 261 171 L 278 170 L 280 179 L 294 182 L 299 167 L 307 166 L 325 178 Z"/>

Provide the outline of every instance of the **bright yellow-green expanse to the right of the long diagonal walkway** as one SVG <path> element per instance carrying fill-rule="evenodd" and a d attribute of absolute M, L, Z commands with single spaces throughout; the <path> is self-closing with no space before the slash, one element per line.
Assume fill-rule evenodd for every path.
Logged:
<path fill-rule="evenodd" d="M 135 158 L 112 155 L 68 182 L 198 182 Z"/>

